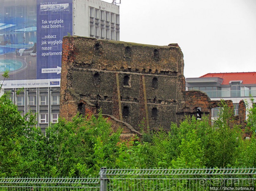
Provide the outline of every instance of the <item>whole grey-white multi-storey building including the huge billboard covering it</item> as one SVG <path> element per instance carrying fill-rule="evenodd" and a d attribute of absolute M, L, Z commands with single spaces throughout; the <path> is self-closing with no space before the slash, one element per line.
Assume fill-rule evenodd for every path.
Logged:
<path fill-rule="evenodd" d="M 99 0 L 0 0 L 0 75 L 21 114 L 44 129 L 59 117 L 62 38 L 119 40 L 119 6 Z M 2 76 L 1 76 L 2 77 Z M 3 78 L 0 78 L 0 81 Z M 24 88 L 17 95 L 16 91 Z"/>

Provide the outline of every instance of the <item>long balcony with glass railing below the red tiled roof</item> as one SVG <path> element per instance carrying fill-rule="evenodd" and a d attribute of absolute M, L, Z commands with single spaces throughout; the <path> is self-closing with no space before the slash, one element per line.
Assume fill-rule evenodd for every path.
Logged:
<path fill-rule="evenodd" d="M 256 90 L 213 90 L 202 92 L 205 92 L 210 98 L 256 97 Z"/>

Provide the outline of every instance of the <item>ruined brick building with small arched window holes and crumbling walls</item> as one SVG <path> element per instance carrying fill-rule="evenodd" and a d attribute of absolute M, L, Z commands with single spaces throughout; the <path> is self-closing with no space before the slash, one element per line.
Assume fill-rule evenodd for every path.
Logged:
<path fill-rule="evenodd" d="M 177 44 L 142 45 L 70 36 L 63 39 L 60 116 L 108 116 L 114 128 L 140 134 L 140 124 L 158 130 L 179 123 L 184 114 L 211 114 L 218 101 L 185 91 L 184 61 Z M 230 103 L 232 106 L 232 102 Z M 245 120 L 240 103 L 240 122 Z"/>

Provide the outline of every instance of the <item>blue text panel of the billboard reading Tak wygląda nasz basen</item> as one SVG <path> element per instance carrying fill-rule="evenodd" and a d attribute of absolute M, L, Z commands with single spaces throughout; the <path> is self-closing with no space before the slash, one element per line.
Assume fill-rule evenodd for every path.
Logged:
<path fill-rule="evenodd" d="M 72 1 L 37 0 L 37 79 L 60 78 L 62 38 L 72 34 Z"/>

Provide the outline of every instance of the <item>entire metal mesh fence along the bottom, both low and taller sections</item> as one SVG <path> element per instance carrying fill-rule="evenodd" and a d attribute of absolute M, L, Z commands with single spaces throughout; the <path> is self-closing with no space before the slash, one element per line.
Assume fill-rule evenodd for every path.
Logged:
<path fill-rule="evenodd" d="M 256 169 L 106 169 L 99 178 L 0 178 L 0 191 L 255 190 Z M 213 189 L 214 188 L 214 189 Z M 237 189 L 234 189 L 237 190 Z"/>

